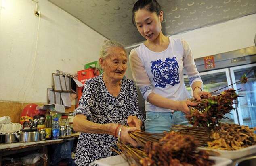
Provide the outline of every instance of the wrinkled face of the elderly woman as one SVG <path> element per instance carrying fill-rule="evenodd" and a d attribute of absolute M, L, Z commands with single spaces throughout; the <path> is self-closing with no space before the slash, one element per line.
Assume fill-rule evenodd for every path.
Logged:
<path fill-rule="evenodd" d="M 104 74 L 113 80 L 122 80 L 127 69 L 126 52 L 119 47 L 108 50 L 108 56 L 103 60 Z"/>

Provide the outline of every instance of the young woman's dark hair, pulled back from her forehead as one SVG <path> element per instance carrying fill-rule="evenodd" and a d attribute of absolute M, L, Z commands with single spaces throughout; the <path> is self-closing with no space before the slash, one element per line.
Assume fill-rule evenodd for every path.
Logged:
<path fill-rule="evenodd" d="M 135 18 L 134 18 L 135 12 L 143 8 L 145 8 L 151 13 L 155 12 L 157 16 L 159 16 L 161 12 L 161 6 L 156 0 L 138 0 L 132 8 L 132 23 L 135 27 L 136 27 Z"/>

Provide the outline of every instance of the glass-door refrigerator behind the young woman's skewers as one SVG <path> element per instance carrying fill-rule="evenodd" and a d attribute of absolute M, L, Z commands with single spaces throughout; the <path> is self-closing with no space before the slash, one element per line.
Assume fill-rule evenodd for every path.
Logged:
<path fill-rule="evenodd" d="M 250 47 L 249 47 L 250 48 Z M 250 51 L 249 51 L 250 50 Z M 236 50 L 229 53 L 218 54 L 215 56 L 215 68 L 205 69 L 202 58 L 195 59 L 197 70 L 204 82 L 204 91 L 213 92 L 217 89 L 233 84 L 212 95 L 220 94 L 223 90 L 234 88 L 239 94 L 238 104 L 233 105 L 234 109 L 231 114 L 225 115 L 229 119 L 222 119 L 223 122 L 237 123 L 256 127 L 256 48 L 251 47 L 248 50 Z M 237 52 L 240 52 L 240 55 Z M 250 52 L 250 55 L 241 55 L 241 52 Z M 241 76 L 246 74 L 248 82 L 242 84 Z M 184 75 L 185 86 L 191 94 L 191 87 L 187 75 Z"/>

